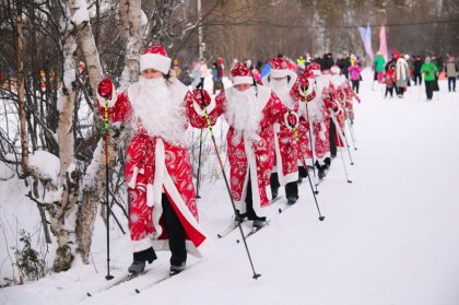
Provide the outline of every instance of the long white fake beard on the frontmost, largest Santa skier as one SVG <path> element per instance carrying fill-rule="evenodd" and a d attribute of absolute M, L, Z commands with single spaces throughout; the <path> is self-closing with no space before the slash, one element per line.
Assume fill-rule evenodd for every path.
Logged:
<path fill-rule="evenodd" d="M 186 109 L 183 101 L 174 101 L 165 79 L 140 78 L 140 92 L 133 108 L 133 124 L 140 120 L 150 137 L 160 137 L 174 145 L 186 145 Z"/>

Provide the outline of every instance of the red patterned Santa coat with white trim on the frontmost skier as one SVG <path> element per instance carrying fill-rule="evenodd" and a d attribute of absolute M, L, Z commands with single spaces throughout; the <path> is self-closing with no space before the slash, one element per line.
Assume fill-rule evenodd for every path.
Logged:
<path fill-rule="evenodd" d="M 197 128 L 205 127 L 205 120 L 193 109 L 188 89 L 173 79 L 168 86 L 170 106 L 185 112 L 187 122 Z M 133 120 L 133 105 L 139 83 L 132 84 L 119 96 L 114 96 L 108 109 L 110 121 Z M 99 103 L 103 114 L 103 103 Z M 161 112 L 161 109 L 158 109 Z M 162 219 L 162 193 L 165 192 L 186 233 L 187 251 L 202 257 L 209 250 L 209 241 L 198 223 L 198 208 L 192 184 L 191 163 L 185 145 L 172 144 L 161 134 L 150 136 L 142 121 L 133 122 L 133 137 L 127 150 L 126 183 L 131 196 L 130 231 L 132 251 L 154 247 L 168 249 L 167 230 Z M 151 239 L 153 237 L 153 241 Z"/>

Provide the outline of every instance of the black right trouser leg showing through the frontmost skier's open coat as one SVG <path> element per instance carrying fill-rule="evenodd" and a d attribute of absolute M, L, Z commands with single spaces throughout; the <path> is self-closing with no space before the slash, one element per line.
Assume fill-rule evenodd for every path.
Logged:
<path fill-rule="evenodd" d="M 163 219 L 169 236 L 169 248 L 172 253 L 170 265 L 180 266 L 187 261 L 187 249 L 185 246 L 185 230 L 178 220 L 169 199 L 163 193 Z"/>

